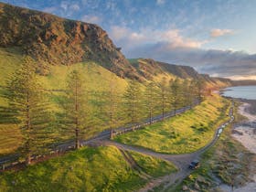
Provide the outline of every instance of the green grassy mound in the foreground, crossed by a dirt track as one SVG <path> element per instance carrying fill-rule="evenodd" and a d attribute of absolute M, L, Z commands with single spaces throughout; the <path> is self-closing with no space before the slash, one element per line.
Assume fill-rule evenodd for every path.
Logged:
<path fill-rule="evenodd" d="M 135 154 L 150 176 L 174 172 L 174 165 Z M 144 162 L 144 164 L 141 164 Z M 146 182 L 114 146 L 82 148 L 19 172 L 0 175 L 2 191 L 133 191 Z"/>

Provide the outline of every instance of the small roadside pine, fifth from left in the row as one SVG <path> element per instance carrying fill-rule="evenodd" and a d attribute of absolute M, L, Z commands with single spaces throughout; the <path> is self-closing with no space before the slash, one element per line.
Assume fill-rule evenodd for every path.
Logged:
<path fill-rule="evenodd" d="M 157 112 L 158 108 L 157 93 L 159 93 L 159 88 L 156 86 L 156 84 L 154 82 L 148 83 L 144 92 L 144 105 L 146 111 L 148 112 L 150 123 L 152 123 L 153 115 Z"/>

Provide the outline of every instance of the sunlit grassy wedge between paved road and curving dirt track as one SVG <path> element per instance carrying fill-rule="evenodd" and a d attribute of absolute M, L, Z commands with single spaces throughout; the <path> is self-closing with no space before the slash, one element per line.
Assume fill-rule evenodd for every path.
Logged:
<path fill-rule="evenodd" d="M 229 101 L 214 95 L 189 112 L 119 135 L 115 141 L 168 154 L 194 152 L 208 144 L 218 125 L 227 119 L 228 106 Z"/>

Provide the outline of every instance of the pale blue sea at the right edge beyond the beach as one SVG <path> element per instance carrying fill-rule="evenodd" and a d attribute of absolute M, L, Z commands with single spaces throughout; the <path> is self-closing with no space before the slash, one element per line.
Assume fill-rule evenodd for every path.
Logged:
<path fill-rule="evenodd" d="M 223 90 L 223 95 L 232 98 L 256 100 L 256 86 L 237 86 Z"/>

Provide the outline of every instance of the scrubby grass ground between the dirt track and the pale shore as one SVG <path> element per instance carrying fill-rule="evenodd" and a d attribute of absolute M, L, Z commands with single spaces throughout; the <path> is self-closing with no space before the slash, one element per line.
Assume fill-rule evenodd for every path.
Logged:
<path fill-rule="evenodd" d="M 236 114 L 235 123 L 239 123 L 242 118 L 240 114 Z M 221 134 L 218 143 L 202 156 L 201 166 L 176 189 L 166 191 L 181 191 L 185 186 L 191 190 L 197 187 L 199 191 L 220 191 L 217 177 L 221 182 L 235 187 L 250 181 L 249 175 L 251 167 L 256 165 L 256 155 L 252 155 L 230 134 L 229 126 Z"/>

